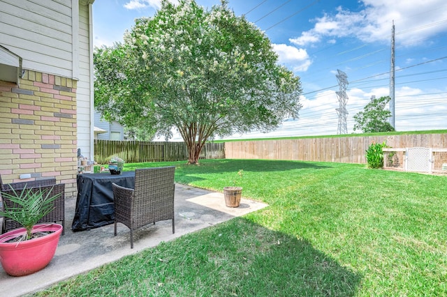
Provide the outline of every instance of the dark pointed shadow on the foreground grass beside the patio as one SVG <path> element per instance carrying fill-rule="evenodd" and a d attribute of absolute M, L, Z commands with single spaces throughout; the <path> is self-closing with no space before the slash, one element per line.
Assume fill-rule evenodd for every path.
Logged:
<path fill-rule="evenodd" d="M 186 234 L 113 265 L 144 269 L 126 286 L 163 284 L 147 291 L 154 296 L 355 296 L 362 280 L 305 238 L 244 218 Z"/>

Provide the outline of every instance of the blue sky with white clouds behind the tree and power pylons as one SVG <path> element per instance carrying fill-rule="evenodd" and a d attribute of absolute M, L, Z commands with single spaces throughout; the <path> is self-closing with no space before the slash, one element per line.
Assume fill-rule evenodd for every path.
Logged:
<path fill-rule="evenodd" d="M 96 0 L 94 46 L 122 42 L 137 17 L 151 17 L 160 0 Z M 175 0 L 172 1 L 176 3 Z M 220 0 L 196 0 L 211 8 Z M 395 129 L 447 129 L 447 2 L 445 0 L 229 0 L 268 36 L 279 63 L 300 77 L 299 119 L 269 133 L 231 138 L 337 135 L 337 91 L 346 88 L 346 128 L 372 96 L 390 95 L 395 28 Z M 339 85 L 337 73 L 347 76 Z M 344 129 L 342 129 L 343 131 Z M 356 131 L 359 132 L 359 131 Z M 180 140 L 175 135 L 171 140 Z"/>

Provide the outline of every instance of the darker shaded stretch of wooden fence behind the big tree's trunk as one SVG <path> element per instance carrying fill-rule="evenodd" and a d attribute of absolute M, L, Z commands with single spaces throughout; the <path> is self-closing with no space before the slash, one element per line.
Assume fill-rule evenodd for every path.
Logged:
<path fill-rule="evenodd" d="M 94 158 L 98 164 L 107 164 L 113 156 L 124 159 L 126 163 L 166 162 L 188 160 L 188 151 L 184 142 L 95 141 Z M 225 159 L 225 144 L 205 144 L 200 158 Z"/>

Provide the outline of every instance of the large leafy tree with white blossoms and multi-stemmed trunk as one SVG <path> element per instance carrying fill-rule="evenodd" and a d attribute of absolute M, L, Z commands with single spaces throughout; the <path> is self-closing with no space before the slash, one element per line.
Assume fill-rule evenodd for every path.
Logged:
<path fill-rule="evenodd" d="M 135 20 L 123 44 L 94 55 L 96 108 L 166 137 L 177 128 L 189 163 L 198 163 L 210 137 L 267 132 L 301 108 L 299 78 L 227 1 L 205 10 L 193 0 L 163 0 L 154 17 Z"/>

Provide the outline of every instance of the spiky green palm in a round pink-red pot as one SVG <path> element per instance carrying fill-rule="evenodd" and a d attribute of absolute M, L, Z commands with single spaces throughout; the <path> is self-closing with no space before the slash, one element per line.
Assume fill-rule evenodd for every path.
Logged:
<path fill-rule="evenodd" d="M 54 208 L 50 196 L 53 187 L 23 188 L 1 192 L 0 215 L 15 220 L 23 228 L 0 235 L 0 262 L 9 275 L 22 276 L 45 268 L 54 257 L 63 227 L 61 224 L 37 224 Z M 8 200 L 8 201 L 6 201 Z"/>

